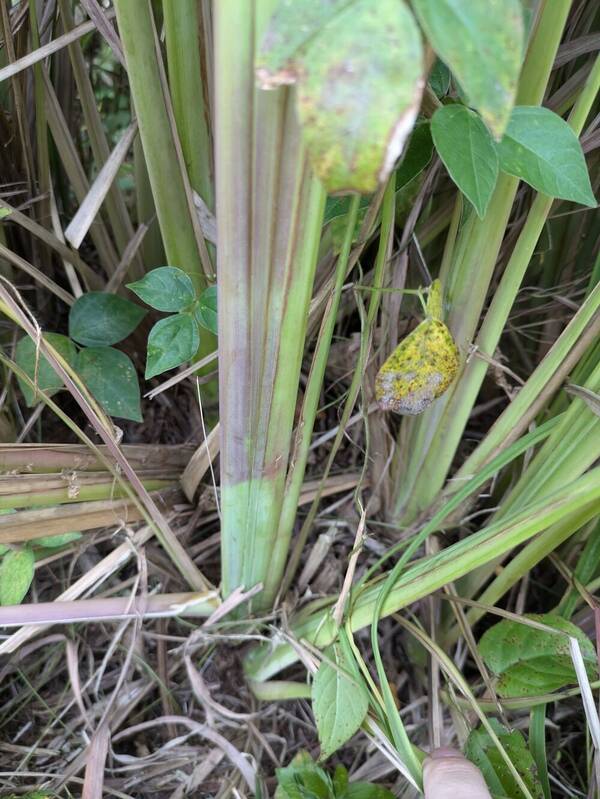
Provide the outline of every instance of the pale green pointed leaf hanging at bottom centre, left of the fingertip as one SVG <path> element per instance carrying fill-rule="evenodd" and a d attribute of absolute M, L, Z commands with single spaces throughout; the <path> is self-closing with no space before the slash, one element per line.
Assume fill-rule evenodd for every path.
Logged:
<path fill-rule="evenodd" d="M 355 664 L 339 643 L 325 653 L 312 683 L 312 708 L 325 760 L 351 738 L 363 723 L 369 697 Z"/>

